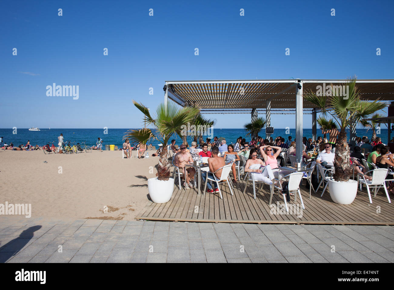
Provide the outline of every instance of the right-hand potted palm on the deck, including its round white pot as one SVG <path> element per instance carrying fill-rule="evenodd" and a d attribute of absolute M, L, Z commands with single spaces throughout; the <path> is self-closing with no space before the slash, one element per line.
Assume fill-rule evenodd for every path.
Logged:
<path fill-rule="evenodd" d="M 332 90 L 331 96 L 316 95 L 312 90 L 304 93 L 305 100 L 313 103 L 322 110 L 324 117 L 331 115 L 338 123 L 340 133 L 335 147 L 334 167 L 335 174 L 329 181 L 329 192 L 334 202 L 339 204 L 351 204 L 357 194 L 357 181 L 351 180 L 350 150 L 348 146 L 346 128 L 351 124 L 358 124 L 362 119 L 370 118 L 376 111 L 384 109 L 388 103 L 375 101 L 362 101 L 356 88 L 357 78 L 348 79 L 348 95 L 344 97 L 338 91 Z M 333 88 L 331 84 L 331 88 Z M 331 107 L 331 108 L 330 108 Z"/>

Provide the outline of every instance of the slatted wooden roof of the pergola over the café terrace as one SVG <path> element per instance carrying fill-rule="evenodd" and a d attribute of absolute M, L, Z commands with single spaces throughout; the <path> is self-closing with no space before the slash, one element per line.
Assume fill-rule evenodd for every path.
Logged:
<path fill-rule="evenodd" d="M 347 80 L 182 80 L 166 81 L 166 84 L 186 104 L 198 105 L 200 109 L 264 109 L 269 99 L 272 109 L 292 109 L 296 107 L 298 81 L 303 83 L 304 92 L 316 92 L 316 87 L 323 83 L 339 85 Z M 356 86 L 364 100 L 394 100 L 392 79 L 357 80 Z M 303 108 L 314 109 L 315 105 L 304 99 Z"/>

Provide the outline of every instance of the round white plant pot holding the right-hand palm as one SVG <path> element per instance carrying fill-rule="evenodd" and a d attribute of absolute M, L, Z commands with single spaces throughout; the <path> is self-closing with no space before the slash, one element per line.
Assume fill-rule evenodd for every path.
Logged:
<path fill-rule="evenodd" d="M 351 204 L 357 195 L 357 181 L 328 181 L 330 196 L 337 204 Z"/>

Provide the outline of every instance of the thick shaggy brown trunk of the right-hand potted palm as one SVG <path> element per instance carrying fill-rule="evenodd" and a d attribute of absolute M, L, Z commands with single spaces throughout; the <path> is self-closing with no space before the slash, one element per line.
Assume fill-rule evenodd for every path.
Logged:
<path fill-rule="evenodd" d="M 348 181 L 351 176 L 350 168 L 350 150 L 347 142 L 346 131 L 341 128 L 338 142 L 335 147 L 334 167 L 335 174 L 333 176 L 335 181 Z"/>

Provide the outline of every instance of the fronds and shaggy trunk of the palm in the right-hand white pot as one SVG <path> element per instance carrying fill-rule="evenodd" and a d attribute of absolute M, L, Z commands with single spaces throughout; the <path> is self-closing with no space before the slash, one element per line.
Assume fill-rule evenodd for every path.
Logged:
<path fill-rule="evenodd" d="M 388 103 L 375 101 L 362 101 L 360 94 L 356 88 L 357 78 L 348 79 L 345 86 L 348 86 L 347 98 L 340 94 L 336 94 L 336 90 L 332 90 L 332 96 L 316 95 L 316 92 L 309 90 L 304 93 L 305 100 L 313 103 L 322 110 L 323 116 L 330 114 L 339 124 L 340 133 L 335 148 L 335 181 L 348 181 L 351 176 L 349 162 L 349 146 L 346 136 L 346 128 L 350 128 L 352 123 L 360 123 L 361 119 L 369 118 L 376 111 L 388 106 Z M 333 85 L 331 84 L 331 88 Z M 327 110 L 327 107 L 332 107 Z"/>

